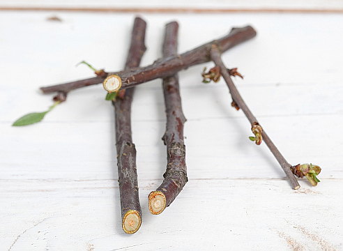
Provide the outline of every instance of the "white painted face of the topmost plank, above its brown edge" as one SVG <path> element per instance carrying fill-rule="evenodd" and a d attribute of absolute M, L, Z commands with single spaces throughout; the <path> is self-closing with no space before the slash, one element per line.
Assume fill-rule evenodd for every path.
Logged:
<path fill-rule="evenodd" d="M 10 7 L 58 7 L 58 8 L 233 8 L 233 9 L 335 9 L 343 8 L 340 0 L 1 0 L 0 6 Z"/>

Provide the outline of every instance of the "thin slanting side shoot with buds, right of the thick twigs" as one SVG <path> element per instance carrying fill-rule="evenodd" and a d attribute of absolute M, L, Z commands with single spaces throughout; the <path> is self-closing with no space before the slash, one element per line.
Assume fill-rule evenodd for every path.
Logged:
<path fill-rule="evenodd" d="M 227 68 L 224 66 L 224 63 L 222 62 L 222 59 L 220 57 L 220 50 L 218 47 L 213 46 L 211 50 L 211 59 L 215 63 L 216 66 L 219 66 L 220 68 L 220 73 L 222 77 L 224 78 L 225 82 L 227 83 L 227 86 L 229 87 L 229 91 L 232 96 L 232 100 L 238 105 L 239 108 L 241 108 L 247 116 L 247 119 L 250 121 L 251 125 L 259 125 L 257 119 L 254 117 L 252 112 L 250 112 L 250 109 L 247 107 L 245 104 L 243 98 L 241 95 L 238 93 L 238 90 L 236 89 L 236 86 L 234 82 L 232 82 L 231 77 L 229 75 L 229 72 Z M 273 142 L 270 140 L 268 135 L 266 134 L 265 130 L 262 130 L 261 132 L 262 139 L 264 142 L 266 142 L 266 145 L 270 149 L 270 151 L 273 153 L 277 161 L 280 163 L 282 169 L 284 170 L 284 173 L 286 174 L 287 178 L 289 178 L 289 181 L 291 182 L 291 186 L 293 189 L 298 189 L 300 188 L 300 185 L 296 178 L 294 177 L 294 174 L 291 172 L 291 165 L 285 158 L 282 156 L 279 150 L 277 150 L 276 146 L 273 144 Z"/>

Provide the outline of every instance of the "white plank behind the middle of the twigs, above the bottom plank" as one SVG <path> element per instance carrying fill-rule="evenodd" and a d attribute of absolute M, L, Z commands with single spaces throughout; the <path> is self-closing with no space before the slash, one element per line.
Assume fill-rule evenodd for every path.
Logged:
<path fill-rule="evenodd" d="M 323 167 L 321 177 L 342 178 L 340 116 L 264 118 L 261 123 L 293 165 L 312 162 Z M 277 126 L 275 126 L 277 125 Z M 313 130 L 326 128 L 326 130 Z M 1 176 L 5 179 L 116 178 L 112 122 L 45 123 L 31 128 L 1 124 Z M 139 178 L 162 178 L 165 146 L 160 138 L 164 121 L 135 121 Z M 284 134 L 289 132 L 289 136 Z M 199 119 L 185 127 L 186 158 L 192 178 L 282 178 L 284 174 L 264 144 L 256 146 L 245 118 Z M 315 140 L 314 140 L 315 135 Z"/>

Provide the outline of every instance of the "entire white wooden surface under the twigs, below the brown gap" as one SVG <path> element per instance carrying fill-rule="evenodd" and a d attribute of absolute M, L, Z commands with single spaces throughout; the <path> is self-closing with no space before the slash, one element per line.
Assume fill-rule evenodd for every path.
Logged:
<path fill-rule="evenodd" d="M 161 56 L 172 20 L 179 52 L 252 24 L 257 38 L 223 59 L 245 75 L 238 90 L 287 160 L 323 168 L 315 188 L 300 180 L 291 190 L 266 146 L 248 139 L 224 82 L 201 83 L 212 63 L 180 73 L 189 182 L 161 215 L 147 207 L 166 165 L 161 81 L 137 87 L 143 222 L 134 235 L 121 229 L 113 108 L 101 86 L 73 91 L 41 123 L 10 126 L 52 105 L 39 86 L 91 77 L 79 61 L 123 68 L 134 17 L 0 12 L 0 250 L 343 250 L 342 15 L 142 15 L 142 65 Z"/>

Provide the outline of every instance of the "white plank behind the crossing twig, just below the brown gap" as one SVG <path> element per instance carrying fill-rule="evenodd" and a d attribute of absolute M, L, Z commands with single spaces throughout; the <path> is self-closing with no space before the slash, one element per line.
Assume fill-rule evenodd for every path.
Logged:
<path fill-rule="evenodd" d="M 18 116 L 26 111 L 39 111 L 52 104 L 51 96 L 41 96 L 36 91 L 39 86 L 53 84 L 57 82 L 67 82 L 72 79 L 80 79 L 91 76 L 91 71 L 86 66 L 74 68 L 79 61 L 89 61 L 96 68 L 104 67 L 106 70 L 119 70 L 123 66 L 125 40 L 116 40 L 113 35 L 107 40 L 102 39 L 102 30 L 98 27 L 108 27 L 107 31 L 112 34 L 118 31 L 127 34 L 132 15 L 118 17 L 116 15 L 92 15 L 92 22 L 86 21 L 86 17 L 71 13 L 61 14 L 65 22 L 47 22 L 49 13 L 3 13 L 1 22 L 5 24 L 8 18 L 12 18 L 12 25 L 1 26 L 3 39 L 0 41 L 1 47 L 6 50 L 1 51 L 0 67 L 5 74 L 0 76 L 1 82 L 5 85 L 0 91 L 1 95 L 1 121 L 14 121 Z M 14 18 L 13 18 L 14 17 Z M 167 22 L 173 15 L 152 16 L 148 24 L 147 45 L 148 52 L 144 56 L 143 65 L 152 63 L 160 57 L 160 34 L 161 22 Z M 238 70 L 245 76 L 244 80 L 236 79 L 238 89 L 242 92 L 243 98 L 252 105 L 252 111 L 257 116 L 271 114 L 340 114 L 342 112 L 342 97 L 334 95 L 340 93 L 342 86 L 340 83 L 343 77 L 340 72 L 343 70 L 343 61 L 340 57 L 342 47 L 338 41 L 342 40 L 343 28 L 337 26 L 337 32 L 333 33 L 327 29 L 328 26 L 342 22 L 342 16 L 313 15 L 301 17 L 294 15 L 250 15 L 249 20 L 257 28 L 259 35 L 245 45 L 236 47 L 234 50 L 223 55 L 224 61 L 229 67 L 238 66 Z M 211 38 L 217 38 L 227 32 L 229 26 L 246 24 L 246 15 L 206 15 L 199 17 L 192 15 L 177 15 L 181 23 L 180 51 L 185 52 L 193 47 L 206 43 Z M 218 22 L 224 18 L 224 22 Z M 165 20 L 165 21 L 163 21 Z M 284 23 L 282 30 L 280 24 Z M 113 24 L 109 25 L 109 24 Z M 300 27 L 297 24 L 301 24 Z M 204 27 L 208 33 L 204 33 L 197 26 Z M 15 29 L 13 29 L 15 27 Z M 74 29 L 74 30 L 73 30 Z M 105 29 L 105 28 L 104 28 Z M 91 30 L 93 32 L 87 32 Z M 306 30 L 306 32 L 304 32 Z M 192 32 L 190 32 L 192 31 Z M 317 36 L 321 33 L 321 36 Z M 22 36 L 26 40 L 22 40 Z M 124 36 L 124 35 L 123 35 Z M 197 39 L 193 39 L 196 37 Z M 40 38 L 40 39 L 36 39 Z M 68 41 L 68 43 L 66 43 Z M 302 43 L 298 41 L 303 41 Z M 311 46 L 306 46 L 311 45 Z M 100 47 L 112 56 L 102 56 L 98 53 Z M 282 50 L 280 50 L 282 48 Z M 20 60 L 13 57 L 20 55 Z M 277 55 L 277 56 L 275 56 Z M 316 58 L 320 58 L 317 63 Z M 282 59 L 282 60 L 280 60 Z M 209 68 L 213 64 L 208 63 Z M 226 98 L 227 91 L 223 84 L 201 84 L 200 73 L 203 66 L 195 66 L 181 73 L 182 95 L 185 109 L 192 105 L 192 102 L 206 102 L 203 109 L 212 111 L 214 117 L 227 116 L 227 112 L 220 111 L 219 105 L 214 102 L 220 95 L 220 100 L 224 106 L 229 105 L 229 98 Z M 20 72 L 24 78 L 15 81 L 13 76 Z M 34 73 L 34 74 L 33 74 Z M 33 77 L 34 76 L 34 77 Z M 36 77 L 37 76 L 37 77 Z M 22 92 L 16 91 L 13 82 L 19 84 Z M 272 87 L 270 87 L 270 85 Z M 315 85 L 315 86 L 314 86 Z M 267 91 L 267 89 L 269 91 Z M 256 91 L 261 90 L 266 98 L 259 98 Z M 289 91 L 287 91 L 289 90 Z M 160 93 L 160 80 L 139 86 L 140 94 L 137 96 L 137 113 L 142 114 L 141 118 L 148 119 L 144 109 L 154 109 L 153 119 L 160 119 L 156 116 L 163 111 L 162 94 Z M 196 92 L 195 92 L 196 91 Z M 192 95 L 190 100 L 188 97 Z M 205 93 L 208 93 L 206 95 Z M 148 95 L 148 97 L 146 97 Z M 66 109 L 58 108 L 58 121 L 84 121 L 89 116 L 84 116 L 85 112 L 92 112 L 91 121 L 99 119 L 108 120 L 110 109 L 106 102 L 102 102 L 104 91 L 101 87 L 90 87 L 89 89 L 77 90 L 70 93 L 68 103 L 61 107 L 77 107 L 75 113 L 68 113 Z M 288 96 L 294 96 L 294 100 L 289 102 Z M 16 98 L 17 100 L 13 100 Z M 40 100 L 40 102 L 30 102 L 30 100 Z M 206 99 L 206 100 L 205 100 Z M 83 100 L 89 100 L 84 102 Z M 146 107 L 153 105 L 158 108 Z M 268 105 L 269 103 L 273 105 Z M 261 106 L 260 106 L 261 105 Z M 23 109 L 27 107 L 27 109 Z M 190 108 L 191 109 L 191 108 Z M 287 110 L 288 109 L 288 110 Z M 198 112 L 194 114 L 194 112 Z M 201 116 L 202 110 L 188 112 L 188 119 L 195 119 Z M 238 113 L 231 112 L 232 116 Z M 47 116 L 47 119 L 54 118 Z M 135 117 L 134 117 L 135 119 Z"/>

